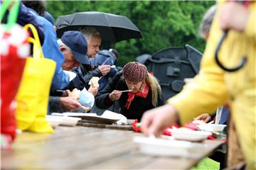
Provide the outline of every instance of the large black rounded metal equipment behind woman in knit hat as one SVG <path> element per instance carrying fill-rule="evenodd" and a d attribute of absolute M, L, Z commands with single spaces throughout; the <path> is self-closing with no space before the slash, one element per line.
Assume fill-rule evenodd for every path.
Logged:
<path fill-rule="evenodd" d="M 144 63 L 159 80 L 164 101 L 180 92 L 183 79 L 193 78 L 199 72 L 202 53 L 191 47 L 169 47 L 156 52 Z"/>

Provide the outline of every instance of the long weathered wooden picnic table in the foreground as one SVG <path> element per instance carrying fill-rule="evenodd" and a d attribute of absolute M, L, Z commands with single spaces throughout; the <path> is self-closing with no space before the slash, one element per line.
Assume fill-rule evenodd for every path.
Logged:
<path fill-rule="evenodd" d="M 189 169 L 223 142 L 206 140 L 198 159 L 139 152 L 129 130 L 59 126 L 53 134 L 23 132 L 1 152 L 1 169 Z"/>

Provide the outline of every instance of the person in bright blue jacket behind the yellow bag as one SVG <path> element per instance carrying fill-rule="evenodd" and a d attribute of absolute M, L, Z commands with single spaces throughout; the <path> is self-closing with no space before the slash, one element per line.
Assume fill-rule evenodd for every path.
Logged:
<path fill-rule="evenodd" d="M 22 1 L 22 3 L 28 8 L 33 16 L 36 16 L 39 23 L 43 26 L 45 33 L 45 39 L 42 45 L 44 57 L 54 60 L 56 62 L 55 74 L 51 84 L 51 91 L 57 89 L 64 89 L 69 84 L 69 76 L 63 72 L 61 65 L 64 61 L 64 56 L 60 52 L 57 45 L 57 37 L 53 25 L 43 18 L 46 11 L 46 1 Z"/>

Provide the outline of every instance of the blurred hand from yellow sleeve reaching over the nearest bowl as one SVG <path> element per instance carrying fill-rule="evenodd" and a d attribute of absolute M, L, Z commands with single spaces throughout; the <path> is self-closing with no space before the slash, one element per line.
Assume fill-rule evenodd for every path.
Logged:
<path fill-rule="evenodd" d="M 166 104 L 146 111 L 142 116 L 142 132 L 146 135 L 160 135 L 168 126 L 178 120 L 176 109 Z"/>

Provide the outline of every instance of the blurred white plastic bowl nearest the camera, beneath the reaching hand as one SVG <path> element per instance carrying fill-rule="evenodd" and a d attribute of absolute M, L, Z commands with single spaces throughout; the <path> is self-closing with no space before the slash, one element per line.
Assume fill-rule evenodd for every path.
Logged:
<path fill-rule="evenodd" d="M 143 154 L 171 156 L 171 157 L 191 157 L 200 156 L 204 145 L 194 144 L 181 140 L 152 139 L 150 137 L 134 137 L 133 141 L 139 145 L 139 150 Z"/>

